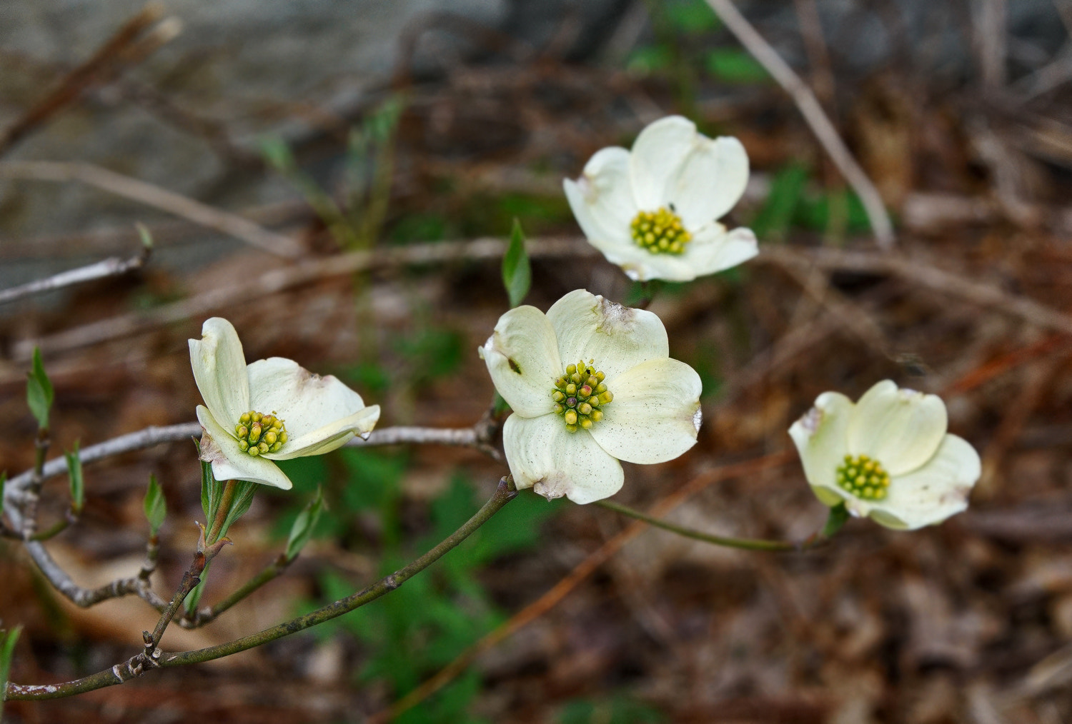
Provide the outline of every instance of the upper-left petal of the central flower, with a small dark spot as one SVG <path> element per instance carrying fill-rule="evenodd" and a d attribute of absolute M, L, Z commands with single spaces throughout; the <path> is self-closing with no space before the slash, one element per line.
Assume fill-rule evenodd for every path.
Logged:
<path fill-rule="evenodd" d="M 519 306 L 498 318 L 480 347 L 498 394 L 518 414 L 535 418 L 554 408 L 554 380 L 565 367 L 547 316 L 535 306 Z"/>

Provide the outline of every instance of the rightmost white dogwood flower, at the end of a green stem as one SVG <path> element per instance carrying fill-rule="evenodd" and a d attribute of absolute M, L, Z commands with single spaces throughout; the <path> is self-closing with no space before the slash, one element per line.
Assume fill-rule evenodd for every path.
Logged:
<path fill-rule="evenodd" d="M 939 397 L 883 380 L 855 404 L 822 393 L 789 435 L 819 500 L 913 530 L 966 509 L 979 480 L 979 453 L 947 424 Z"/>

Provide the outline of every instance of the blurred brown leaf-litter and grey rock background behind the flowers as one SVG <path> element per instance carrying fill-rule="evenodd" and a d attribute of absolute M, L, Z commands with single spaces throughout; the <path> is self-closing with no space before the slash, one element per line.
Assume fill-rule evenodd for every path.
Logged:
<path fill-rule="evenodd" d="M 473 424 L 492 395 L 475 348 L 507 302 L 497 257 L 443 244 L 503 238 L 517 217 L 534 257 L 528 303 L 546 310 L 578 287 L 636 301 L 579 238 L 561 181 L 680 112 L 745 145 L 753 178 L 730 221 L 763 251 L 660 290 L 651 308 L 704 380 L 705 422 L 680 459 L 627 465 L 615 499 L 649 509 L 716 467 L 790 450 L 786 429 L 819 393 L 858 397 L 892 378 L 940 394 L 951 432 L 980 450 L 971 508 L 911 533 L 850 521 L 804 554 L 643 532 L 398 721 L 1072 721 L 1072 7 L 738 6 L 874 181 L 892 253 L 790 96 L 694 0 L 0 5 L 0 286 L 134 256 L 135 222 L 155 241 L 136 272 L 0 306 L 0 468 L 32 465 L 34 345 L 56 387 L 59 454 L 193 420 L 185 341 L 211 315 L 235 323 L 250 360 L 339 375 L 383 406 L 381 426 Z M 31 163 L 44 161 L 62 165 Z M 102 188 L 100 169 L 152 186 Z M 165 191 L 233 215 L 206 228 Z M 236 216 L 258 226 L 236 232 Z M 378 256 L 358 273 L 310 266 L 366 248 Z M 165 648 L 228 640 L 363 586 L 464 519 L 505 468 L 426 447 L 288 472 L 294 493 L 265 492 L 233 529 L 206 600 L 278 555 L 319 483 L 330 511 L 317 539 L 242 607 L 173 627 Z M 153 582 L 174 590 L 203 516 L 189 442 L 87 466 L 86 512 L 48 544 L 79 584 L 140 564 L 150 473 L 169 509 Z M 46 523 L 65 485 L 46 485 Z M 794 540 L 824 519 L 794 456 L 697 487 L 669 517 Z M 530 495 L 508 512 L 337 624 L 9 703 L 4 721 L 366 721 L 628 526 Z M 20 683 L 123 661 L 155 621 L 134 598 L 68 605 L 9 542 L 0 580 L 0 619 L 26 627 Z"/>

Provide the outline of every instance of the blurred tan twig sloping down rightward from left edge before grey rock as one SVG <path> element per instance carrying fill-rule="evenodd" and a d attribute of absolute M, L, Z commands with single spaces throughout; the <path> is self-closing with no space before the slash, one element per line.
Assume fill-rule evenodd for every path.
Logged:
<path fill-rule="evenodd" d="M 240 239 L 251 246 L 284 258 L 295 258 L 301 247 L 289 237 L 270 231 L 238 214 L 222 211 L 187 196 L 138 179 L 85 163 L 8 161 L 0 163 L 0 178 L 38 181 L 78 181 L 123 198 L 138 201 L 206 228 Z"/>

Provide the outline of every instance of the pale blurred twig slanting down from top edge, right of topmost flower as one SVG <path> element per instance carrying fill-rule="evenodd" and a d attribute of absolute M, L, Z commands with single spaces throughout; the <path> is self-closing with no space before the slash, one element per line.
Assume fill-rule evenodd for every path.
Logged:
<path fill-rule="evenodd" d="M 812 132 L 822 144 L 823 149 L 830 155 L 831 161 L 845 177 L 845 180 L 852 191 L 860 197 L 875 231 L 875 240 L 881 248 L 891 248 L 894 243 L 893 225 L 890 216 L 885 212 L 882 197 L 879 195 L 875 184 L 852 157 L 852 153 L 845 141 L 837 133 L 837 129 L 827 118 L 822 106 L 816 99 L 815 93 L 807 87 L 800 76 L 781 59 L 777 50 L 763 40 L 763 36 L 745 19 L 731 0 L 706 0 L 715 14 L 721 18 L 726 27 L 730 29 L 741 45 L 750 52 L 759 63 L 766 69 L 766 72 L 781 86 L 796 104 L 804 120 L 812 127 Z"/>

